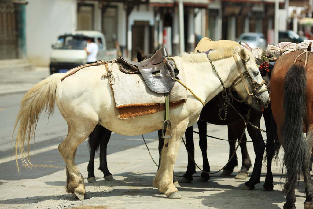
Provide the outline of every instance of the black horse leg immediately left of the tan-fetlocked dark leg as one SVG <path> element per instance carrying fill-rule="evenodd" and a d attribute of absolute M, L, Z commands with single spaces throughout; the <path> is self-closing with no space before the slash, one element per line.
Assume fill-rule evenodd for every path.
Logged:
<path fill-rule="evenodd" d="M 229 144 L 229 157 L 235 152 L 236 147 L 236 128 L 234 124 L 228 125 L 228 144 Z M 228 165 L 223 169 L 221 176 L 230 176 L 233 173 L 234 168 L 238 165 L 237 154 L 235 153 L 233 159 L 228 163 Z"/>

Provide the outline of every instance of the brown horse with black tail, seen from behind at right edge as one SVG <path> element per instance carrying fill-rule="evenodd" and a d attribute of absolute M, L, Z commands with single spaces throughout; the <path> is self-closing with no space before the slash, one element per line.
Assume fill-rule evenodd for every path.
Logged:
<path fill-rule="evenodd" d="M 303 54 L 301 54 L 303 53 Z M 299 56 L 300 55 L 300 56 Z M 290 52 L 277 59 L 271 74 L 271 107 L 280 144 L 285 149 L 287 201 L 295 208 L 295 187 L 301 170 L 305 180 L 304 208 L 313 208 L 309 156 L 313 146 L 313 54 Z M 306 133 L 304 138 L 303 133 Z M 286 188 L 286 187 L 285 187 Z"/>

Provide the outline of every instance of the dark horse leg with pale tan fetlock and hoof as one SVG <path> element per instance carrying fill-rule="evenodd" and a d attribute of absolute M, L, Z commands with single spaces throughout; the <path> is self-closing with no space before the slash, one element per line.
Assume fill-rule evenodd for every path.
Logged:
<path fill-rule="evenodd" d="M 236 134 L 237 139 L 239 140 L 241 137 L 242 132 L 244 131 L 244 121 L 240 121 L 235 124 L 237 126 L 236 128 Z M 241 155 L 242 155 L 242 166 L 239 170 L 238 174 L 235 176 L 235 179 L 246 179 L 248 177 L 248 170 L 252 166 L 250 156 L 248 154 L 247 150 L 247 136 L 246 133 L 244 133 L 244 136 L 242 138 L 242 142 L 239 144 L 241 149 Z"/>

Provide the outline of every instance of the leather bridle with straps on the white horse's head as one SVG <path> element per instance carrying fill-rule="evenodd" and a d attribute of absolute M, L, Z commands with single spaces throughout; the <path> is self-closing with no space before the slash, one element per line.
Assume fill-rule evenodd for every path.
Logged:
<path fill-rule="evenodd" d="M 258 83 L 257 81 L 254 81 L 254 80 L 253 80 L 252 76 L 250 75 L 250 73 L 249 73 L 249 71 L 248 71 L 248 69 L 247 69 L 247 62 L 249 62 L 250 57 L 248 57 L 248 60 L 247 60 L 247 61 L 241 59 L 241 61 L 242 61 L 243 64 L 244 64 L 244 72 L 241 71 L 241 68 L 240 68 L 239 61 L 238 61 L 238 59 L 237 59 L 237 56 L 236 56 L 236 55 L 233 55 L 233 58 L 235 59 L 235 62 L 236 62 L 236 65 L 237 65 L 237 69 L 238 69 L 238 71 L 239 71 L 239 76 L 233 81 L 233 83 L 232 83 L 232 85 L 231 85 L 231 88 L 234 89 L 234 86 L 238 85 L 238 84 L 240 83 L 240 80 L 241 80 L 242 83 L 244 84 L 244 87 L 245 87 L 246 91 L 247 91 L 247 95 L 246 95 L 246 97 L 245 97 L 244 99 L 242 99 L 242 100 L 238 100 L 238 99 L 236 99 L 235 97 L 233 97 L 233 95 L 231 94 L 231 91 L 230 91 L 230 95 L 231 95 L 236 101 L 238 101 L 238 102 L 247 102 L 250 97 L 256 97 L 256 98 L 259 100 L 257 94 L 258 94 L 258 93 L 262 93 L 262 92 L 264 92 L 264 91 L 267 91 L 267 88 L 266 88 L 266 87 L 265 87 L 265 89 L 263 89 L 263 90 L 259 90 L 259 89 L 265 84 L 265 81 L 263 80 L 261 83 Z M 249 85 L 250 85 L 250 87 L 251 87 L 251 89 L 252 89 L 252 92 L 251 92 L 251 93 L 250 93 L 250 91 L 249 91 L 248 84 L 247 84 L 247 82 L 246 82 L 246 80 L 245 80 L 246 77 L 248 77 L 249 80 L 250 80 Z M 259 91 L 258 91 L 258 90 L 259 90 Z M 258 100 L 257 100 L 257 102 L 258 102 Z"/>

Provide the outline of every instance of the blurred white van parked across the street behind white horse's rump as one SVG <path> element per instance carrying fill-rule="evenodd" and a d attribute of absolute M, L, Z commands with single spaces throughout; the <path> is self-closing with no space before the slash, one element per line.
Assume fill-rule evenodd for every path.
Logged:
<path fill-rule="evenodd" d="M 74 67 L 86 64 L 87 39 L 91 38 L 98 44 L 97 60 L 113 60 L 117 58 L 117 49 L 106 49 L 105 37 L 99 31 L 78 30 L 60 35 L 52 45 L 50 53 L 50 74 L 64 73 Z"/>

